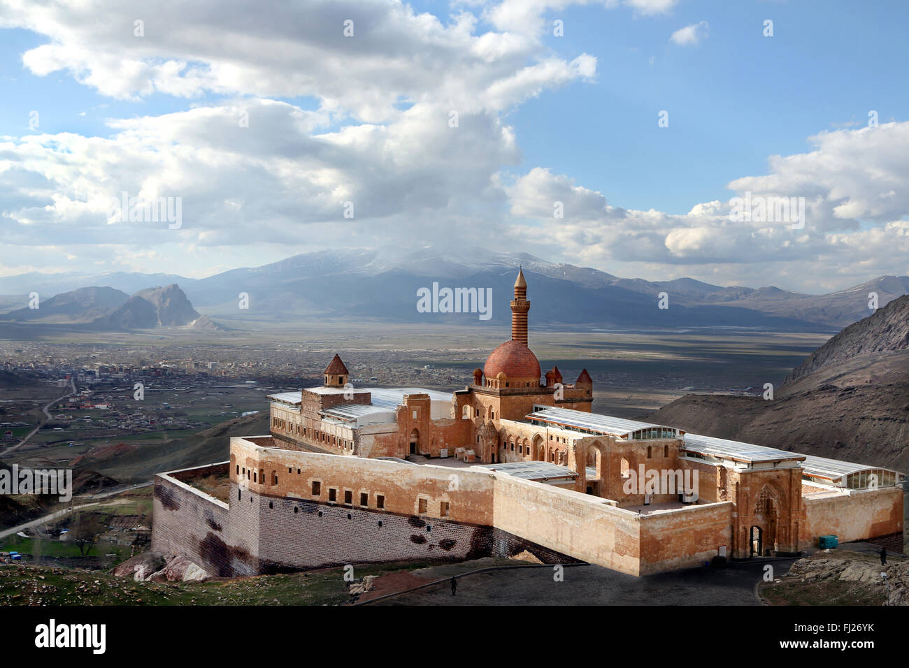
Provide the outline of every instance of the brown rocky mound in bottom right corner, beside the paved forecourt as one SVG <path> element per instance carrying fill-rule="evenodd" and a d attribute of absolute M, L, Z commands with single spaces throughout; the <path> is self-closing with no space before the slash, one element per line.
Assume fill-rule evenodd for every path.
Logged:
<path fill-rule="evenodd" d="M 773 605 L 884 605 L 890 583 L 890 604 L 909 604 L 909 558 L 878 553 L 822 550 L 799 559 L 783 577 L 764 583 L 759 593 Z"/>

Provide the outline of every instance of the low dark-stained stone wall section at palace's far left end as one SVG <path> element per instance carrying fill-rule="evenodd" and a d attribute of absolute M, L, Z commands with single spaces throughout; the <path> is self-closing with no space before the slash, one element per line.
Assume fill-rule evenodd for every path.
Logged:
<path fill-rule="evenodd" d="M 223 472 L 227 464 L 219 464 Z M 203 474 L 215 473 L 205 466 Z M 214 575 L 234 574 L 230 553 L 221 549 L 229 533 L 226 503 L 178 480 L 193 470 L 155 475 L 152 550 L 183 555 Z"/>

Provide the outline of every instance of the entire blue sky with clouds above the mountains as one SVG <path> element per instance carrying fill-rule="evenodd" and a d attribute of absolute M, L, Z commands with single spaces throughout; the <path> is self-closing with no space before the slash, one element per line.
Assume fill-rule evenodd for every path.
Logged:
<path fill-rule="evenodd" d="M 387 245 L 807 293 L 909 274 L 907 19 L 0 0 L 0 276 Z"/>

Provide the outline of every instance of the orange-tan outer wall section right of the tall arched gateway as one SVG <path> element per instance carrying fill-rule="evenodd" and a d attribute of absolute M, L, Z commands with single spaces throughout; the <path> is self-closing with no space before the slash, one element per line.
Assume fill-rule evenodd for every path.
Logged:
<path fill-rule="evenodd" d="M 817 546 L 821 535 L 834 534 L 840 543 L 903 533 L 903 488 L 848 490 L 804 496 L 805 529 L 800 547 Z"/>

